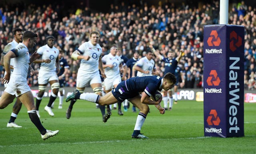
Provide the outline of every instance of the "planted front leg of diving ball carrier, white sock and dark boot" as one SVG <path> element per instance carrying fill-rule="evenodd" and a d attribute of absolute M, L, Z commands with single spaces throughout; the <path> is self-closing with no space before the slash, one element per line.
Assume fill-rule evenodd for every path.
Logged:
<path fill-rule="evenodd" d="M 144 124 L 144 121 L 146 120 L 146 116 L 149 112 L 149 107 L 146 104 L 140 103 L 141 95 L 137 95 L 134 98 L 128 99 L 133 105 L 135 105 L 138 109 L 140 109 L 140 112 L 137 116 L 136 124 L 134 126 L 134 131 L 132 133 L 132 138 L 148 138 L 141 134 L 140 130 L 142 125 Z"/>

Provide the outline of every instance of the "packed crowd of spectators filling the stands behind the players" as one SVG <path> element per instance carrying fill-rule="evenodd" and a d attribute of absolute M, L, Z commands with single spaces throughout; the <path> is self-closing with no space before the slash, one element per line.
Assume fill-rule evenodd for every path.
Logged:
<path fill-rule="evenodd" d="M 129 59 L 135 50 L 142 57 L 150 43 L 162 55 L 169 50 L 176 55 L 184 50 L 176 71 L 180 73 L 179 88 L 202 88 L 203 86 L 203 29 L 204 25 L 218 24 L 220 4 L 213 0 L 200 7 L 184 4 L 162 3 L 158 6 L 144 3 L 110 5 L 109 12 L 93 12 L 90 8 L 76 8 L 68 16 L 61 14 L 61 5 L 0 8 L 0 51 L 12 41 L 12 30 L 22 28 L 38 34 L 34 50 L 46 44 L 49 35 L 55 38 L 55 47 L 66 53 L 70 70 L 66 86 L 76 86 L 76 73 L 80 61 L 71 59 L 79 45 L 89 40 L 92 31 L 100 33 L 100 45 L 104 54 L 115 43 Z M 228 24 L 245 26 L 244 83 L 246 89 L 256 89 L 256 8 L 240 2 L 229 12 Z M 160 76 L 164 63 L 154 57 Z M 38 73 L 39 65 L 32 64 Z M 0 67 L 1 85 L 4 67 Z M 28 76 L 30 86 L 38 86 L 37 75 Z"/>

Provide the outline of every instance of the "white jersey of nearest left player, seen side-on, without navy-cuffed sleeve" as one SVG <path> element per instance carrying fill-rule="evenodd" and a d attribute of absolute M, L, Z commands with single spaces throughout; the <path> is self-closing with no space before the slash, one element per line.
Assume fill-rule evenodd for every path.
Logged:
<path fill-rule="evenodd" d="M 27 80 L 30 60 L 28 48 L 23 43 L 19 43 L 18 46 L 12 49 L 12 52 L 16 55 L 15 58 L 12 58 L 14 63 L 12 77 L 16 77 L 20 79 L 20 81 Z"/>

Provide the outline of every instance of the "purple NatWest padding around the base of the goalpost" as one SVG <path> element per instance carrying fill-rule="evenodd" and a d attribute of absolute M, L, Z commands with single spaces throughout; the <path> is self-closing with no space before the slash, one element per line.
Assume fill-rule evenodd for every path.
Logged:
<path fill-rule="evenodd" d="M 244 136 L 244 26 L 204 26 L 204 136 Z"/>

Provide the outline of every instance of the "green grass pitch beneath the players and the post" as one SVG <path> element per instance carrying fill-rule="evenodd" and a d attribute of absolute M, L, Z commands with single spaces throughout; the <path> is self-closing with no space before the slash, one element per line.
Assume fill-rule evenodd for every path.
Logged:
<path fill-rule="evenodd" d="M 63 103 L 58 109 L 55 101 L 55 116 L 44 111 L 49 98 L 45 97 L 40 105 L 40 120 L 49 130 L 60 130 L 59 134 L 42 140 L 40 132 L 23 106 L 16 123 L 22 128 L 7 128 L 6 124 L 12 112 L 10 104 L 0 110 L 0 153 L 211 153 L 241 154 L 256 152 L 256 103 L 244 104 L 245 137 L 220 138 L 204 137 L 203 103 L 196 101 L 178 101 L 172 111 L 161 115 L 154 106 L 150 106 L 141 132 L 150 139 L 132 139 L 131 134 L 137 113 L 132 109 L 119 116 L 112 110 L 108 122 L 102 122 L 100 109 L 94 103 L 79 100 L 74 105 L 70 119 L 66 119 L 69 103 Z"/>

